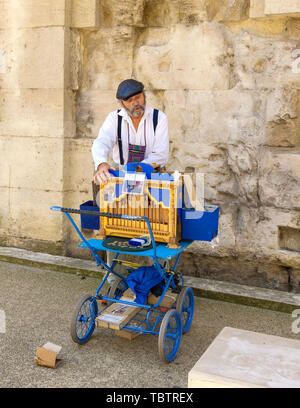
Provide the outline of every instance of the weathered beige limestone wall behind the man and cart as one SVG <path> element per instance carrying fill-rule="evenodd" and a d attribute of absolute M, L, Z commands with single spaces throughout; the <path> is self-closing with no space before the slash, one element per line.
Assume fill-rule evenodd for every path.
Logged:
<path fill-rule="evenodd" d="M 299 291 L 299 49 L 298 0 L 1 0 L 1 244 L 87 256 L 49 207 L 91 199 L 92 142 L 134 77 L 168 115 L 168 168 L 205 173 L 221 208 L 181 270 Z"/>

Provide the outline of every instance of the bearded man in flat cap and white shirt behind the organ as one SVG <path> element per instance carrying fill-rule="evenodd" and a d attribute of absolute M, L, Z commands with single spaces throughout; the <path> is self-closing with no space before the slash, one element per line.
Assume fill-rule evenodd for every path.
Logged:
<path fill-rule="evenodd" d="M 158 111 L 154 131 L 154 109 L 146 106 L 144 85 L 134 79 L 126 79 L 118 86 L 116 97 L 121 109 L 107 116 L 92 147 L 95 183 L 105 183 L 110 177 L 108 170 L 115 170 L 116 166 L 129 162 L 164 166 L 169 157 L 167 116 Z M 114 166 L 108 163 L 110 153 Z"/>

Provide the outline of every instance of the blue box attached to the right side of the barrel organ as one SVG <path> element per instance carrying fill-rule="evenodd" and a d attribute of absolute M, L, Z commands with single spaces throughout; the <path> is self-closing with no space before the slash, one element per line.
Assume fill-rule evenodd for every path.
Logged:
<path fill-rule="evenodd" d="M 182 239 L 212 241 L 218 235 L 220 207 L 205 205 L 204 210 L 182 209 Z"/>

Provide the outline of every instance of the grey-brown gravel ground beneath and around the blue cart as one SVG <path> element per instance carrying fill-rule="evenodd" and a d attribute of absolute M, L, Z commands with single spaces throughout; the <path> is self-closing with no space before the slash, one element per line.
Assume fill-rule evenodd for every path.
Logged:
<path fill-rule="evenodd" d="M 185 388 L 188 372 L 225 326 L 300 339 L 291 331 L 290 314 L 198 297 L 191 329 L 174 362 L 166 364 L 159 359 L 158 336 L 127 340 L 96 328 L 85 345 L 72 341 L 74 307 L 83 295 L 95 294 L 95 278 L 0 262 L 0 282 L 0 311 L 6 316 L 1 388 Z M 36 347 L 47 341 L 62 346 L 56 369 L 34 361 Z"/>

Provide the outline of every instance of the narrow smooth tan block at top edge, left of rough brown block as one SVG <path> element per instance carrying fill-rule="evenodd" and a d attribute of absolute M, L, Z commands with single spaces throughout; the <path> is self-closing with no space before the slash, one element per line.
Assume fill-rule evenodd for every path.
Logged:
<path fill-rule="evenodd" d="M 72 0 L 71 26 L 94 28 L 100 24 L 99 0 Z"/>

